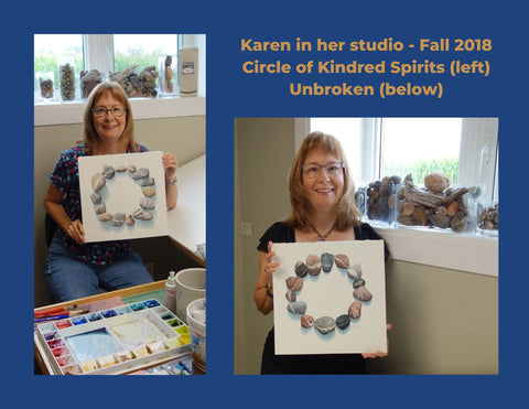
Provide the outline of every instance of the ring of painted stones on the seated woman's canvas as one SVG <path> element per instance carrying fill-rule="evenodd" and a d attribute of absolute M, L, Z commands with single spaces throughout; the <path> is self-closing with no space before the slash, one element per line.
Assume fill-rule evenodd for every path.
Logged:
<path fill-rule="evenodd" d="M 102 200 L 102 194 L 100 193 L 105 186 L 107 186 L 107 180 L 112 177 L 120 177 L 121 175 L 128 174 L 129 177 L 132 177 L 137 185 L 141 190 L 140 198 L 138 200 L 138 208 L 131 214 L 127 213 L 109 213 L 107 206 Z M 136 220 L 151 220 L 153 218 L 152 211 L 155 209 L 156 203 L 152 200 L 156 194 L 156 187 L 154 179 L 149 176 L 148 168 L 137 169 L 134 164 L 129 164 L 128 166 L 112 166 L 104 165 L 101 172 L 97 172 L 91 176 L 91 189 L 93 193 L 90 194 L 91 203 L 94 204 L 94 211 L 96 212 L 97 219 L 101 223 L 110 222 L 114 227 L 120 227 L 125 224 L 128 226 L 134 226 Z M 110 192 L 107 192 L 110 195 Z"/>

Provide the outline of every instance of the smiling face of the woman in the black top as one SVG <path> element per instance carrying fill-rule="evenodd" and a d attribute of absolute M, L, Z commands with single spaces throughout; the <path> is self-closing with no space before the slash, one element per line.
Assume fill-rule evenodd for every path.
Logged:
<path fill-rule="evenodd" d="M 303 165 L 306 168 L 310 163 L 323 165 L 332 162 L 341 162 L 341 160 L 328 152 L 315 150 L 306 155 Z M 322 168 L 316 177 L 311 179 L 305 172 L 303 172 L 302 177 L 303 186 L 315 209 L 335 206 L 344 193 L 344 172 L 342 168 L 336 175 L 330 176 L 326 169 Z"/>

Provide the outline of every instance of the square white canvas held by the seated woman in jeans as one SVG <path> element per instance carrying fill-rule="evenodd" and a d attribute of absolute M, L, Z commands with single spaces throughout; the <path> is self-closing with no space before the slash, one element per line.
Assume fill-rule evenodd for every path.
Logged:
<path fill-rule="evenodd" d="M 87 243 L 168 235 L 163 152 L 78 159 Z"/>

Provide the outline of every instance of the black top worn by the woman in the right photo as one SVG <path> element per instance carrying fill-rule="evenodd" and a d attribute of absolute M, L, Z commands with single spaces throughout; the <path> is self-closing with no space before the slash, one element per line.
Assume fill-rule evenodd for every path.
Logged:
<path fill-rule="evenodd" d="M 355 226 L 357 240 L 384 240 L 367 223 Z M 258 250 L 268 252 L 268 241 L 295 243 L 292 226 L 274 223 L 260 238 Z M 384 243 L 385 259 L 389 257 Z M 360 354 L 276 355 L 273 329 L 268 333 L 262 351 L 261 374 L 365 374 L 366 360 Z"/>

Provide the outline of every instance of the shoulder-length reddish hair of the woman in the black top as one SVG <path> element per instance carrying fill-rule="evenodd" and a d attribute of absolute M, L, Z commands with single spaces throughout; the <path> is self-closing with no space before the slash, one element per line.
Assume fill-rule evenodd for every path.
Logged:
<path fill-rule="evenodd" d="M 336 205 L 336 229 L 346 230 L 360 224 L 360 212 L 355 203 L 355 184 L 349 174 L 349 166 L 339 141 L 331 134 L 323 132 L 310 133 L 301 143 L 290 170 L 289 190 L 292 206 L 289 223 L 294 228 L 304 228 L 312 212 L 312 204 L 303 186 L 302 165 L 306 157 L 314 151 L 330 153 L 344 163 L 344 192 Z"/>

